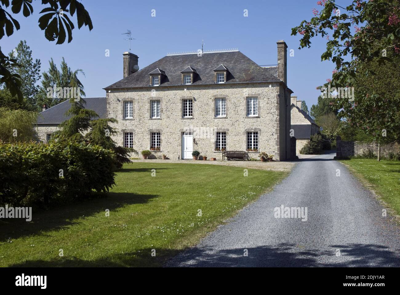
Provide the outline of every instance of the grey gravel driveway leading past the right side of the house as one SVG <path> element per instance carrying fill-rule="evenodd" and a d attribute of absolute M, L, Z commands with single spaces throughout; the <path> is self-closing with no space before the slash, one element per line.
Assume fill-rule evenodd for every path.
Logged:
<path fill-rule="evenodd" d="M 300 159 L 272 192 L 166 266 L 399 267 L 398 226 L 389 214 L 382 217 L 384 207 L 333 157 Z M 307 220 L 275 218 L 281 205 L 303 207 L 303 216 L 307 207 Z"/>

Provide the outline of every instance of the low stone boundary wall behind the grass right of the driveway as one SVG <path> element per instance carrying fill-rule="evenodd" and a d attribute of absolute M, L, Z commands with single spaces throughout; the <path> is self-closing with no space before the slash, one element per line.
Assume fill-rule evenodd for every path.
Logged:
<path fill-rule="evenodd" d="M 336 138 L 336 156 L 337 157 L 349 157 L 352 155 L 361 155 L 364 151 L 370 149 L 374 154 L 378 155 L 378 143 L 377 142 L 344 142 L 338 136 Z M 380 155 L 381 157 L 387 157 L 388 153 L 400 152 L 400 145 L 398 143 L 381 144 Z"/>

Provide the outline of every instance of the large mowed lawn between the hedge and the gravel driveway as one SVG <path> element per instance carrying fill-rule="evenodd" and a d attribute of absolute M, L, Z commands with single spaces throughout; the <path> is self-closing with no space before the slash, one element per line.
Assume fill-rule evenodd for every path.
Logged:
<path fill-rule="evenodd" d="M 126 164 L 108 197 L 33 211 L 31 222 L 0 221 L 0 266 L 162 265 L 286 175 L 248 169 L 244 177 L 244 168 L 220 165 Z"/>

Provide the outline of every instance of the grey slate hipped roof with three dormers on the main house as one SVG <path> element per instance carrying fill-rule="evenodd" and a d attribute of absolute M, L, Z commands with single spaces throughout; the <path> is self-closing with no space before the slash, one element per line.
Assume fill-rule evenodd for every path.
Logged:
<path fill-rule="evenodd" d="M 229 69 L 226 84 L 246 83 L 246 82 L 280 82 L 277 78 L 277 68 L 262 68 L 250 60 L 240 51 L 204 53 L 202 56 L 197 54 L 182 54 L 164 56 L 160 60 L 146 66 L 142 70 L 104 88 L 134 88 L 149 87 L 148 73 L 159 68 L 165 71 L 167 79 L 158 87 L 182 85 L 183 68 L 191 66 L 195 68 L 198 75 L 193 81 L 193 85 L 215 84 L 214 69 L 223 64 Z"/>

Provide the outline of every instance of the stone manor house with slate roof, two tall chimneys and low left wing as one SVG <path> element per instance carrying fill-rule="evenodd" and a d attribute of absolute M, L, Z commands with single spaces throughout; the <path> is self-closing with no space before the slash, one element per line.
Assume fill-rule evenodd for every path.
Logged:
<path fill-rule="evenodd" d="M 113 140 L 160 158 L 222 158 L 222 151 L 260 151 L 290 157 L 287 46 L 277 42 L 278 64 L 259 66 L 238 50 L 168 54 L 139 70 L 138 56 L 123 54 L 124 78 L 105 98 L 84 98 L 100 118 L 115 118 Z M 38 135 L 47 142 L 66 120 L 69 102 L 44 110 Z"/>

